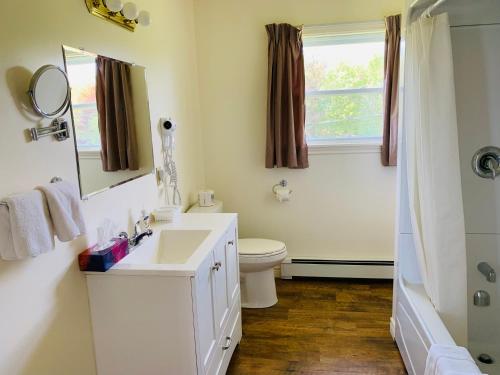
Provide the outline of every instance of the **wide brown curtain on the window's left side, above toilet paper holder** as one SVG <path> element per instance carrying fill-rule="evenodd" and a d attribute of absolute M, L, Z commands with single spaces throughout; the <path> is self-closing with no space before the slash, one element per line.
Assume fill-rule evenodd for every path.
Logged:
<path fill-rule="evenodd" d="M 309 166 L 305 140 L 302 30 L 266 25 L 268 45 L 266 168 Z"/>

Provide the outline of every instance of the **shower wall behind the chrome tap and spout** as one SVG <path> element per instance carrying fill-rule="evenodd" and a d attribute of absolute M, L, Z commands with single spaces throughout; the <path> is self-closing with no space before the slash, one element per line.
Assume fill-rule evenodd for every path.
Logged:
<path fill-rule="evenodd" d="M 477 264 L 488 262 L 500 272 L 500 185 L 476 176 L 471 159 L 482 147 L 500 145 L 500 26 L 452 28 L 451 36 L 467 240 L 469 341 L 476 355 L 498 353 L 500 288 L 498 282 L 486 281 Z M 489 307 L 472 304 L 474 292 L 481 289 L 491 295 Z"/>

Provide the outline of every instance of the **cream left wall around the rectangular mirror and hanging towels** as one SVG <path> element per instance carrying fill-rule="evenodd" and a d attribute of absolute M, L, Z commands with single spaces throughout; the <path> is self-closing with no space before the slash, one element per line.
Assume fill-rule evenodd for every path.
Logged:
<path fill-rule="evenodd" d="M 2 3 L 0 197 L 55 175 L 77 183 L 72 139 L 28 143 L 23 134 L 37 121 L 22 109 L 30 76 L 43 64 L 62 66 L 62 44 L 146 66 L 153 124 L 160 116 L 172 116 L 179 125 L 177 159 L 185 200 L 203 185 L 192 2 L 136 3 L 151 11 L 153 24 L 135 33 L 89 15 L 83 0 L 33 0 L 22 9 L 16 1 Z M 149 176 L 92 197 L 84 203 L 88 241 L 58 244 L 30 260 L 0 261 L 0 374 L 95 374 L 85 279 L 76 256 L 95 238 L 103 218 L 130 229 L 143 207 L 156 205 L 157 196 Z"/>

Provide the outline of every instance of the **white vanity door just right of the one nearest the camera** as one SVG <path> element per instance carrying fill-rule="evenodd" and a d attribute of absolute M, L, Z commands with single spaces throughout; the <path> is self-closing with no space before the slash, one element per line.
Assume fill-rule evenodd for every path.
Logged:
<path fill-rule="evenodd" d="M 214 249 L 214 311 L 217 334 L 222 331 L 229 315 L 229 304 L 226 284 L 226 239 L 222 238 Z"/>

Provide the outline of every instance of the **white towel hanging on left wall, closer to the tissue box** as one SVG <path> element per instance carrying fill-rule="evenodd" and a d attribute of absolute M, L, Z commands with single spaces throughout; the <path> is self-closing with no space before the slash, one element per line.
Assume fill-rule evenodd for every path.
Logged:
<path fill-rule="evenodd" d="M 37 189 L 47 198 L 50 216 L 59 240 L 71 241 L 86 233 L 80 195 L 75 185 L 61 181 L 39 186 Z"/>

